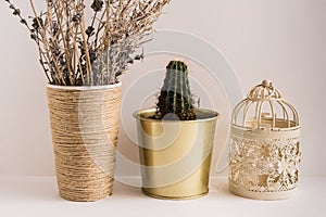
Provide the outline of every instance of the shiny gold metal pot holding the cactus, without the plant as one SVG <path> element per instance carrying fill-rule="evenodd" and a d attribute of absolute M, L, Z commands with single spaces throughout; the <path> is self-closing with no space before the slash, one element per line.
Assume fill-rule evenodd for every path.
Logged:
<path fill-rule="evenodd" d="M 196 110 L 197 120 L 158 120 L 155 108 L 136 112 L 142 192 L 158 199 L 193 199 L 209 192 L 218 113 Z"/>

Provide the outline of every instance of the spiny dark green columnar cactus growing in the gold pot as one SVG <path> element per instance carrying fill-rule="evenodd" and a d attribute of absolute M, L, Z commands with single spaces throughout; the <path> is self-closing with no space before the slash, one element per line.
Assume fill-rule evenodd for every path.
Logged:
<path fill-rule="evenodd" d="M 193 100 L 188 80 L 188 67 L 181 61 L 171 61 L 166 66 L 164 85 L 159 95 L 156 119 L 193 120 Z"/>

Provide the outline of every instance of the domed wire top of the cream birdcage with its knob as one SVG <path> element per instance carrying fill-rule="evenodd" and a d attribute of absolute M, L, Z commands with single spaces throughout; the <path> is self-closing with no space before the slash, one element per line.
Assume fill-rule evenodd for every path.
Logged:
<path fill-rule="evenodd" d="M 235 107 L 231 124 L 242 128 L 281 130 L 299 127 L 299 116 L 272 81 L 263 80 Z"/>

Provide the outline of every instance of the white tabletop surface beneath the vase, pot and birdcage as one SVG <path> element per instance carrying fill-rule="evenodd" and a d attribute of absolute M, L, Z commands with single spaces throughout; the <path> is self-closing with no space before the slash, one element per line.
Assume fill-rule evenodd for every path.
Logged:
<path fill-rule="evenodd" d="M 139 188 L 115 182 L 113 195 L 90 203 L 70 202 L 58 194 L 55 177 L 0 177 L 0 216 L 326 216 L 326 177 L 302 178 L 297 196 L 284 201 L 255 201 L 227 191 L 227 178 L 214 178 L 206 196 L 162 201 Z"/>

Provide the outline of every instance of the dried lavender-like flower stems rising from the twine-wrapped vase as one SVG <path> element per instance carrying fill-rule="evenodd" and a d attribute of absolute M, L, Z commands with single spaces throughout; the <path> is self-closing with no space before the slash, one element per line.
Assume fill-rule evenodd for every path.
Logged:
<path fill-rule="evenodd" d="M 101 86 L 116 84 L 128 64 L 143 58 L 135 52 L 151 39 L 152 25 L 171 0 L 92 0 L 88 26 L 85 0 L 46 0 L 39 13 L 29 0 L 28 20 L 4 1 L 36 42 L 49 84 Z"/>

